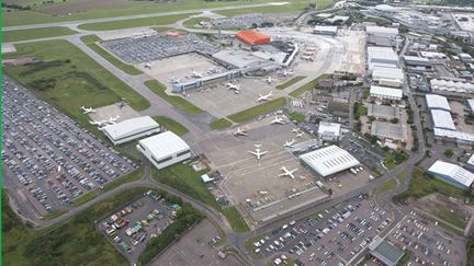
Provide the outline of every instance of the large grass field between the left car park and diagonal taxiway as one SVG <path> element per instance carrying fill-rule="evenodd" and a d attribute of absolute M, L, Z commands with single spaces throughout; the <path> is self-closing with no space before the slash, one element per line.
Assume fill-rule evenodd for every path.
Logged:
<path fill-rule="evenodd" d="M 3 68 L 7 74 L 41 99 L 90 127 L 80 106 L 99 107 L 125 97 L 137 111 L 149 102 L 67 41 L 16 45 L 9 57 L 41 57 L 43 62 Z"/>

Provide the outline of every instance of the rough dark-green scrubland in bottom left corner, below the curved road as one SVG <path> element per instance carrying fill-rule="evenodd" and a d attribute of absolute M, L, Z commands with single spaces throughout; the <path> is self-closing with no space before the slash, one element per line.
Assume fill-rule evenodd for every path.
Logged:
<path fill-rule="evenodd" d="M 128 265 L 97 230 L 94 221 L 140 197 L 146 190 L 137 188 L 123 192 L 65 222 L 42 230 L 27 229 L 21 224 L 7 200 L 3 200 L 3 265 Z"/>

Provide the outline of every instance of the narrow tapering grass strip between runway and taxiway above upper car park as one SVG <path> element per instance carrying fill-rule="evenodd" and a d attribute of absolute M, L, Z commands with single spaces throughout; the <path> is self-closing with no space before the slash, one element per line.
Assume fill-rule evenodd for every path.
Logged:
<path fill-rule="evenodd" d="M 87 31 L 113 31 L 113 30 L 127 28 L 127 27 L 168 25 L 195 14 L 198 13 L 162 15 L 162 16 L 111 21 L 111 22 L 86 23 L 79 25 L 78 27 L 80 30 L 87 30 Z"/>

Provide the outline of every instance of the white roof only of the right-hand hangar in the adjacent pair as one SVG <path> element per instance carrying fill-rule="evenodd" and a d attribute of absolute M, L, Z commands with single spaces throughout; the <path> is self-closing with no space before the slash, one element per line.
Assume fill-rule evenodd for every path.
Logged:
<path fill-rule="evenodd" d="M 166 131 L 153 137 L 142 139 L 138 143 L 144 147 L 151 155 L 160 160 L 176 153 L 187 151 L 190 147 L 178 135 Z"/>

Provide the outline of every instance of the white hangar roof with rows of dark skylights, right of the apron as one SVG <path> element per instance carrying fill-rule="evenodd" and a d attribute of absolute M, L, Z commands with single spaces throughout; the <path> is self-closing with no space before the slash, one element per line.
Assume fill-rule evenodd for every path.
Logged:
<path fill-rule="evenodd" d="M 337 146 L 305 153 L 300 155 L 300 160 L 321 176 L 328 176 L 360 164 L 349 152 Z"/>

